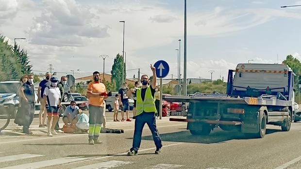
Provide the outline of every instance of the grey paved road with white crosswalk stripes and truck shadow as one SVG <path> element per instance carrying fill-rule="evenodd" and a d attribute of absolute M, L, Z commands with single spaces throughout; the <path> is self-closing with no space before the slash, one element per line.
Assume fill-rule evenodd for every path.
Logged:
<path fill-rule="evenodd" d="M 111 116 L 112 113 L 107 113 Z M 46 136 L 46 129 L 33 123 L 33 136 L 10 126 L 0 135 L 0 167 L 4 169 L 301 169 L 301 123 L 291 131 L 268 125 L 262 139 L 215 129 L 210 136 L 192 136 L 186 123 L 157 120 L 163 140 L 162 154 L 155 151 L 151 132 L 145 126 L 139 154 L 126 156 L 132 145 L 134 120 L 113 122 L 123 134 L 101 134 L 103 144 L 88 145 L 87 134 Z M 15 129 L 14 129 L 15 128 Z"/>

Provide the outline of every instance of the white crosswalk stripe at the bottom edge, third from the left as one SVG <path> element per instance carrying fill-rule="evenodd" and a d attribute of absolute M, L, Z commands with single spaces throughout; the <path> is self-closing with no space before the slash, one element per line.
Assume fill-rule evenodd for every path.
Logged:
<path fill-rule="evenodd" d="M 112 160 L 112 161 L 107 161 L 102 163 L 91 164 L 88 166 L 78 167 L 75 169 L 108 169 L 108 168 L 119 167 L 127 164 L 132 164 L 132 163 L 134 162 Z"/>

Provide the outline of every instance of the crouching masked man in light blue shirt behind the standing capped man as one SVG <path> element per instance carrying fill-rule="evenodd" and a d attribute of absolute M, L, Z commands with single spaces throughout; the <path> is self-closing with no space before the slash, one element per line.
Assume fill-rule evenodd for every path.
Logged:
<path fill-rule="evenodd" d="M 67 108 L 65 109 L 65 112 L 63 114 L 63 122 L 65 124 L 71 123 L 75 125 L 78 121 L 77 119 L 78 113 L 80 113 L 80 108 L 76 106 L 76 102 L 72 100 L 70 102 L 70 105 L 67 106 Z"/>

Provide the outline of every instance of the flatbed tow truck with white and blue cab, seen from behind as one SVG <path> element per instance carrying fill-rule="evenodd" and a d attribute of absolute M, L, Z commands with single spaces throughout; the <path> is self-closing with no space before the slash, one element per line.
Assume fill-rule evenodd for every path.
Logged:
<path fill-rule="evenodd" d="M 189 103 L 186 119 L 192 135 L 209 135 L 219 127 L 236 130 L 252 138 L 264 138 L 267 124 L 289 131 L 294 103 L 295 74 L 285 64 L 239 63 L 228 71 L 226 94 L 195 93 L 164 96 L 169 102 Z"/>

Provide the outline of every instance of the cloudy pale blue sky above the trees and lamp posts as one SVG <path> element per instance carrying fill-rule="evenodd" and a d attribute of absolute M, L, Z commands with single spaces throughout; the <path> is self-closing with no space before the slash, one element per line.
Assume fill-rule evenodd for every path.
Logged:
<path fill-rule="evenodd" d="M 187 0 L 187 78 L 227 79 L 238 63 L 301 59 L 299 0 Z M 122 54 L 127 78 L 151 75 L 150 64 L 167 61 L 166 78 L 184 75 L 184 0 L 0 0 L 0 34 L 27 50 L 33 72 L 52 64 L 58 76 L 112 70 Z M 179 44 L 181 39 L 181 44 Z"/>

